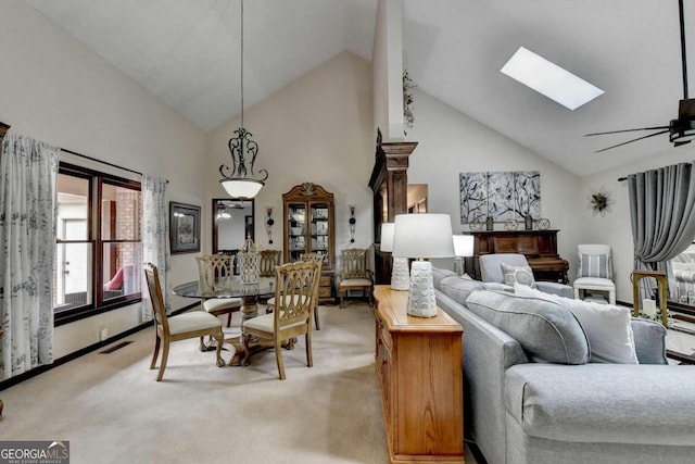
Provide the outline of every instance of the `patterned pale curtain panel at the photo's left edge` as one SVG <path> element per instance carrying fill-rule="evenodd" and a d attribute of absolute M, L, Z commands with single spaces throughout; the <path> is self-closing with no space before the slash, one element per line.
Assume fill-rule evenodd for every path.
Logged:
<path fill-rule="evenodd" d="M 14 134 L 0 156 L 0 378 L 53 362 L 59 149 Z"/>

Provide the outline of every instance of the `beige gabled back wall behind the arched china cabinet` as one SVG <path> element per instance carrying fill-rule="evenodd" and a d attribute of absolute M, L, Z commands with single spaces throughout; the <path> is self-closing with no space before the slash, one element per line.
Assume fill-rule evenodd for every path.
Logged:
<path fill-rule="evenodd" d="M 256 244 L 282 248 L 282 193 L 306 181 L 334 195 L 338 255 L 351 246 L 349 204 L 356 205 L 353 246 L 371 244 L 372 198 L 367 186 L 375 153 L 371 110 L 371 66 L 350 52 L 244 110 L 244 125 L 260 147 L 255 170 L 269 173 L 255 199 Z M 227 141 L 239 122 L 235 117 L 210 133 L 208 198 L 226 197 L 217 167 L 230 162 Z M 274 209 L 273 244 L 265 233 L 267 206 Z"/>

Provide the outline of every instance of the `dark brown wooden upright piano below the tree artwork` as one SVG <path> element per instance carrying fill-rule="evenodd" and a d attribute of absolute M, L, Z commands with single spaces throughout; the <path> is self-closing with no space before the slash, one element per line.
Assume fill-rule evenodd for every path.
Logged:
<path fill-rule="evenodd" d="M 536 280 L 567 284 L 569 263 L 557 254 L 559 230 L 483 230 L 473 236 L 473 277 L 480 279 L 479 256 L 489 253 L 526 255 Z"/>

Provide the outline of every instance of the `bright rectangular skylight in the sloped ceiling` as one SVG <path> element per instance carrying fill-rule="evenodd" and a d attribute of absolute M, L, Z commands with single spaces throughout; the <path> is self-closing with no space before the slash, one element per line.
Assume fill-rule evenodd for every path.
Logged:
<path fill-rule="evenodd" d="M 604 92 L 523 47 L 519 47 L 500 71 L 569 110 L 576 110 Z"/>

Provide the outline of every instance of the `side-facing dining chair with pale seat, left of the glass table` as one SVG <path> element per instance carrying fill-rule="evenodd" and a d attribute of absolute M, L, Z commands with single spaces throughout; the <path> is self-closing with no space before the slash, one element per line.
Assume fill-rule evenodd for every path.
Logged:
<path fill-rule="evenodd" d="M 225 365 L 225 360 L 222 359 L 224 334 L 222 331 L 222 323 L 219 319 L 216 316 L 203 313 L 202 311 L 193 311 L 168 317 L 166 315 L 166 308 L 164 306 L 164 299 L 162 298 L 162 287 L 160 285 L 160 275 L 156 266 L 152 263 L 146 263 L 142 268 L 144 269 L 144 279 L 148 285 L 150 301 L 152 301 L 152 310 L 154 312 L 154 353 L 152 354 L 150 369 L 155 367 L 156 359 L 160 354 L 160 346 L 163 344 L 162 362 L 160 364 L 160 373 L 156 376 L 156 381 L 161 381 L 162 377 L 164 377 L 166 360 L 169 355 L 169 343 L 172 341 L 185 340 L 188 338 L 200 338 L 200 350 L 206 351 L 206 347 L 203 344 L 202 338 L 210 335 L 217 341 L 217 349 L 215 353 L 217 356 L 217 367 L 223 367 Z"/>

